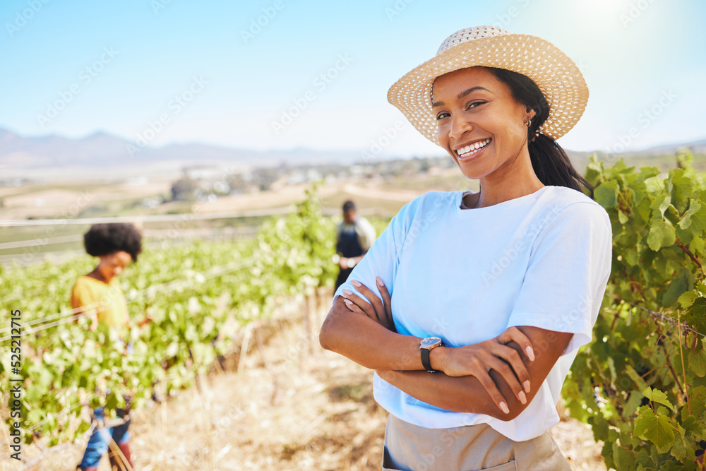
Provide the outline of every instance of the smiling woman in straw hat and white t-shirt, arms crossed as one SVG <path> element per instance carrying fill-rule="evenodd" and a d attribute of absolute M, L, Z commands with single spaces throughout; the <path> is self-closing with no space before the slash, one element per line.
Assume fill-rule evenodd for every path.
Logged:
<path fill-rule="evenodd" d="M 390 88 L 481 190 L 407 203 L 323 323 L 324 348 L 376 370 L 383 469 L 570 469 L 547 430 L 611 268 L 609 217 L 555 142 L 587 98 L 554 45 L 486 26 Z"/>

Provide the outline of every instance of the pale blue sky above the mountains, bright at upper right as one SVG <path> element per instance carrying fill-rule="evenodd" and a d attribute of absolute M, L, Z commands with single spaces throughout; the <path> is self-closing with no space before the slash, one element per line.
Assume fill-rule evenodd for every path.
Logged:
<path fill-rule="evenodd" d="M 387 90 L 452 32 L 496 24 L 582 67 L 589 103 L 561 145 L 636 150 L 706 138 L 705 20 L 701 0 L 4 1 L 0 127 L 362 150 L 397 126 L 385 153 L 441 155 Z"/>

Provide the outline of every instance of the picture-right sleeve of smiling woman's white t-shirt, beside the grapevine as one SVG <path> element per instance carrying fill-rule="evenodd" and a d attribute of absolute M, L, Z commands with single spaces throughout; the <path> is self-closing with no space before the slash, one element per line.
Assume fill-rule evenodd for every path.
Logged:
<path fill-rule="evenodd" d="M 613 237 L 606 211 L 573 203 L 539 230 L 510 326 L 573 333 L 563 354 L 592 340 L 611 271 Z"/>

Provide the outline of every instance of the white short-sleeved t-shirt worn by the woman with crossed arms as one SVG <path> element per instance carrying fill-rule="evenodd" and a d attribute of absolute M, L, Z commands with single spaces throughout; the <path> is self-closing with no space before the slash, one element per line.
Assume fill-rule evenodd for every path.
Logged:
<path fill-rule="evenodd" d="M 574 333 L 532 402 L 508 422 L 434 407 L 374 375 L 376 401 L 405 422 L 430 429 L 486 423 L 514 441 L 529 440 L 558 423 L 563 381 L 578 347 L 592 340 L 611 270 L 611 222 L 601 205 L 563 186 L 461 209 L 465 193 L 429 191 L 407 203 L 334 301 L 343 288 L 356 292 L 350 280 L 380 296 L 377 275 L 400 334 L 438 335 L 459 347 L 510 326 Z"/>

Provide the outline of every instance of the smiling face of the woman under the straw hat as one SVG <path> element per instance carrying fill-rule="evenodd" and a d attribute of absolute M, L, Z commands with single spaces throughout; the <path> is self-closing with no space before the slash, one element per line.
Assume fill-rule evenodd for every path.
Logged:
<path fill-rule="evenodd" d="M 502 177 L 517 157 L 529 159 L 528 117 L 510 88 L 484 67 L 462 68 L 433 84 L 439 144 L 470 179 Z"/>

